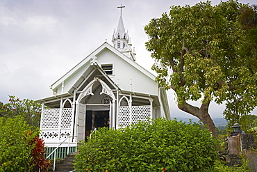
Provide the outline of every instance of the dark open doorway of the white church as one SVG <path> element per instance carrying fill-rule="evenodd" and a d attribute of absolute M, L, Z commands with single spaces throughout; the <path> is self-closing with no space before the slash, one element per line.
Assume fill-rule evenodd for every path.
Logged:
<path fill-rule="evenodd" d="M 90 136 L 90 131 L 94 128 L 109 127 L 109 111 L 86 111 L 85 136 Z"/>

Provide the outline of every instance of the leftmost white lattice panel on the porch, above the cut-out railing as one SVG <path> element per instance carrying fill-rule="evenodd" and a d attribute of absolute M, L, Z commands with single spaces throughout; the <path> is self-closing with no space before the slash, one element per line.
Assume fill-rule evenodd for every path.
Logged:
<path fill-rule="evenodd" d="M 44 109 L 42 128 L 58 128 L 60 109 Z"/>

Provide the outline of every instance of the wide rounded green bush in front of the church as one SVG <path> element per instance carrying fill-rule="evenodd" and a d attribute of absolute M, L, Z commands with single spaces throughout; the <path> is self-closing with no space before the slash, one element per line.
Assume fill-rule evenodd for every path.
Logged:
<path fill-rule="evenodd" d="M 140 122 L 124 129 L 101 128 L 81 141 L 76 171 L 199 171 L 216 159 L 214 139 L 197 123 Z"/>

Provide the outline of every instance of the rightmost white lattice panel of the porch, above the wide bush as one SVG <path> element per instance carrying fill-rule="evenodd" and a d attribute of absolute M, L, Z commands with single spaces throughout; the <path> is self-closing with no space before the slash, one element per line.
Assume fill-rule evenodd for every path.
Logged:
<path fill-rule="evenodd" d="M 132 107 L 132 123 L 137 124 L 138 120 L 146 121 L 151 118 L 150 106 L 133 106 Z"/>

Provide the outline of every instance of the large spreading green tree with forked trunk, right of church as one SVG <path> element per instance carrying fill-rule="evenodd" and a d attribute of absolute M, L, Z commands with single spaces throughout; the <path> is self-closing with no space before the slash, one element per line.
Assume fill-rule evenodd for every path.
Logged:
<path fill-rule="evenodd" d="M 179 109 L 199 118 L 215 135 L 208 112 L 211 101 L 225 102 L 228 118 L 256 107 L 257 74 L 251 65 L 257 61 L 251 58 L 256 51 L 240 56 L 247 42 L 238 22 L 242 7 L 251 8 L 238 1 L 172 6 L 169 15 L 163 13 L 144 27 L 147 50 L 156 60 L 152 67 L 158 73 L 156 81 L 172 88 Z M 188 100 L 201 100 L 201 105 L 193 106 Z"/>

